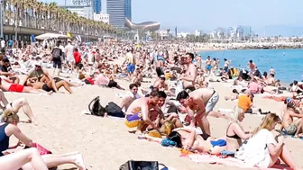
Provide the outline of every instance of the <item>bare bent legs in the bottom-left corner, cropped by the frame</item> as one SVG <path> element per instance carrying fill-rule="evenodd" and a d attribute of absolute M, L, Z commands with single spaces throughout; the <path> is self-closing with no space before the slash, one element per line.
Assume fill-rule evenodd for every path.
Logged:
<path fill-rule="evenodd" d="M 19 169 L 29 162 L 32 164 L 33 170 L 48 170 L 36 148 L 27 148 L 4 157 L 0 157 L 1 170 Z"/>

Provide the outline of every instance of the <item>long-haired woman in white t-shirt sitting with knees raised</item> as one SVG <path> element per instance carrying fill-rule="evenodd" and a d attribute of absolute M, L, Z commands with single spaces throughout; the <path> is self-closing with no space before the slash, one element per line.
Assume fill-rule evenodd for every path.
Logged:
<path fill-rule="evenodd" d="M 280 157 L 290 168 L 299 169 L 289 149 L 285 147 L 285 138 L 279 135 L 275 139 L 271 133 L 279 121 L 279 116 L 268 113 L 260 126 L 253 130 L 252 138 L 248 140 L 242 154 L 246 166 L 268 168 L 280 163 Z"/>

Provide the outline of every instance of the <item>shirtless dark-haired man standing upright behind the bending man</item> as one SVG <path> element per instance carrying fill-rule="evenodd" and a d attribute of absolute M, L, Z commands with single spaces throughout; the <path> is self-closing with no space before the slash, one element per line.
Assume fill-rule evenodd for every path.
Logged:
<path fill-rule="evenodd" d="M 183 89 L 195 90 L 195 81 L 197 78 L 197 67 L 192 63 L 194 59 L 193 53 L 187 53 L 185 62 L 187 70 L 184 75 L 179 76 L 179 80 L 183 82 Z"/>

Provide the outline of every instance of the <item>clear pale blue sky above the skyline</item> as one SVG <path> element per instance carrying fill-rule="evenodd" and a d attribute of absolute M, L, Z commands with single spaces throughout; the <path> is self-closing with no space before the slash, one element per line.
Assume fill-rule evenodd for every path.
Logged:
<path fill-rule="evenodd" d="M 105 10 L 106 0 L 102 1 Z M 64 0 L 55 2 L 64 4 Z M 302 6 L 302 0 L 133 0 L 132 7 L 133 22 L 154 21 L 161 22 L 162 28 L 210 31 L 236 25 L 251 25 L 253 29 L 303 26 Z"/>

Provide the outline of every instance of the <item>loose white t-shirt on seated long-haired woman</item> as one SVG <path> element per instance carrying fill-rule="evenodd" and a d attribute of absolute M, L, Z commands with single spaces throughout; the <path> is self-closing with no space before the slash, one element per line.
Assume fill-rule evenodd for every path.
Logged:
<path fill-rule="evenodd" d="M 247 166 L 266 168 L 270 166 L 271 155 L 267 144 L 276 145 L 271 131 L 262 129 L 248 140 L 243 152 L 243 161 Z"/>

